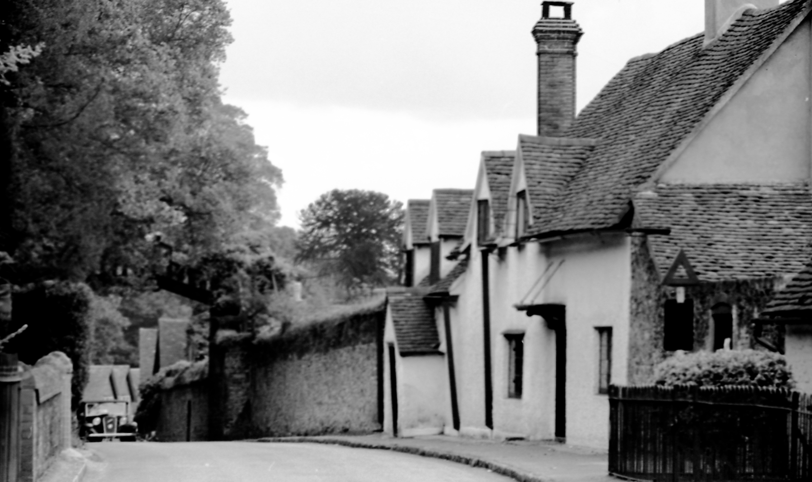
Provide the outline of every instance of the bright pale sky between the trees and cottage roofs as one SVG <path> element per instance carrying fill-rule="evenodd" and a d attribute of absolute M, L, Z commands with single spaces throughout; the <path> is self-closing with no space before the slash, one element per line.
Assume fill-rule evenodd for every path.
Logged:
<path fill-rule="evenodd" d="M 283 171 L 282 226 L 331 189 L 429 199 L 534 134 L 540 0 L 227 0 L 225 101 Z M 702 32 L 704 0 L 577 0 L 580 110 L 628 59 Z"/>

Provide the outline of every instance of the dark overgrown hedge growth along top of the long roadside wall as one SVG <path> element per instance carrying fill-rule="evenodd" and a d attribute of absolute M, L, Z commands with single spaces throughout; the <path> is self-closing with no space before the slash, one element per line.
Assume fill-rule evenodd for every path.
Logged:
<path fill-rule="evenodd" d="M 302 356 L 374 343 L 386 316 L 387 300 L 378 299 L 346 311 L 332 313 L 308 325 L 294 326 L 281 334 L 257 336 L 224 333 L 218 345 L 231 346 L 250 342 L 258 353 L 270 356 Z"/>

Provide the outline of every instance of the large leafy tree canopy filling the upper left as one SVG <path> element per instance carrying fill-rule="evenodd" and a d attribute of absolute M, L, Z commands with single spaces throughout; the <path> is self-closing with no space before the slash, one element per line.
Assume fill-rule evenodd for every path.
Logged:
<path fill-rule="evenodd" d="M 149 265 L 153 233 L 192 257 L 246 239 L 269 248 L 257 233 L 279 218 L 283 179 L 220 98 L 225 2 L 3 8 L 4 62 L 28 55 L 0 82 L 0 251 L 16 260 L 13 281 L 109 286 L 115 269 Z"/>

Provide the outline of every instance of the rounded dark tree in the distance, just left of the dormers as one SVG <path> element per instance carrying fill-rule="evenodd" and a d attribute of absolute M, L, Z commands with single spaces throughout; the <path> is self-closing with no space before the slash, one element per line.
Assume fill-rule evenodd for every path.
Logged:
<path fill-rule="evenodd" d="M 351 288 L 397 279 L 404 212 L 380 192 L 334 189 L 302 209 L 296 260 L 313 263 Z"/>

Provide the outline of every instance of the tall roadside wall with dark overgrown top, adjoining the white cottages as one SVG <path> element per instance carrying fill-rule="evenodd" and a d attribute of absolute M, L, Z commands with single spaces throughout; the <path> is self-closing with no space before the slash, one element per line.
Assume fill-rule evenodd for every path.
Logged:
<path fill-rule="evenodd" d="M 385 315 L 379 303 L 271 338 L 221 333 L 215 437 L 380 430 Z"/>

